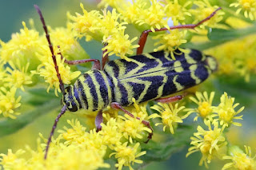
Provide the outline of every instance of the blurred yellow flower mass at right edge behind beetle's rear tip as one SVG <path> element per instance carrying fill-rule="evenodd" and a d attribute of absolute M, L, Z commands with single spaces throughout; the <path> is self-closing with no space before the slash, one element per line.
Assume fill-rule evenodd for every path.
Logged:
<path fill-rule="evenodd" d="M 234 21 L 231 20 L 231 21 Z M 234 24 L 234 23 L 233 23 Z M 244 24 L 240 26 L 245 26 Z M 208 53 L 214 55 L 219 61 L 219 74 L 240 75 L 245 81 L 250 81 L 250 75 L 256 73 L 256 36 L 226 42 Z"/>

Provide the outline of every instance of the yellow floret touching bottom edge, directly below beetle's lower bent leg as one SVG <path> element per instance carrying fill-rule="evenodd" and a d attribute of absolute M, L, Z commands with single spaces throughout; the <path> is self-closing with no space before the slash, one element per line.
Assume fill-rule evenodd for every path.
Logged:
<path fill-rule="evenodd" d="M 118 164 L 115 164 L 115 167 L 118 170 L 121 170 L 123 166 L 128 166 L 130 170 L 133 170 L 131 164 L 137 163 L 142 164 L 142 160 L 136 160 L 137 157 L 145 155 L 146 151 L 140 152 L 140 144 L 136 143 L 133 145 L 128 145 L 128 142 L 118 145 L 114 148 L 116 152 L 110 154 L 110 156 L 115 155 L 114 157 L 118 159 Z"/>

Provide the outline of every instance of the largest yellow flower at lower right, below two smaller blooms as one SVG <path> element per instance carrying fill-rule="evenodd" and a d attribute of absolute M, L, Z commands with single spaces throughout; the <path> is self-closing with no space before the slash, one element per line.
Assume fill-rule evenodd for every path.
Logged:
<path fill-rule="evenodd" d="M 200 125 L 198 125 L 198 132 L 194 132 L 194 136 L 190 137 L 192 140 L 191 145 L 194 145 L 189 148 L 187 156 L 190 156 L 191 153 L 201 152 L 202 158 L 199 162 L 199 165 L 210 164 L 210 160 L 214 157 L 220 157 L 226 152 L 226 139 L 223 134 L 225 126 L 219 127 L 218 121 L 210 122 L 210 120 L 204 120 L 205 125 L 209 130 L 204 130 Z M 211 126 L 214 126 L 212 128 Z"/>

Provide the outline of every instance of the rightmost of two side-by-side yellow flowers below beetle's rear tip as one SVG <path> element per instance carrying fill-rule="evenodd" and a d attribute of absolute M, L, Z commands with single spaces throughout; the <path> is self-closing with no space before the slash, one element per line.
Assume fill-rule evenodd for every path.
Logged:
<path fill-rule="evenodd" d="M 226 127 L 231 124 L 236 126 L 242 126 L 242 124 L 233 121 L 236 119 L 242 120 L 242 115 L 238 117 L 236 117 L 236 115 L 238 115 L 238 113 L 241 113 L 242 110 L 245 109 L 245 107 L 242 107 L 238 109 L 238 111 L 235 111 L 234 109 L 238 105 L 238 103 L 234 104 L 234 97 L 227 96 L 227 93 L 225 92 L 224 94 L 222 94 L 221 103 L 217 107 L 214 107 L 215 114 L 213 115 L 213 117 L 218 117 L 217 120 L 220 121 L 220 125 Z"/>

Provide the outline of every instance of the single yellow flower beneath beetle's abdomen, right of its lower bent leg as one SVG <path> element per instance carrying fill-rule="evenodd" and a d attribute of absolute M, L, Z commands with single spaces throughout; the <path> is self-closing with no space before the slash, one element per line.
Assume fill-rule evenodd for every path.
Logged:
<path fill-rule="evenodd" d="M 161 116 L 154 113 L 150 115 L 149 118 L 162 118 L 162 123 L 157 123 L 156 126 L 163 125 L 163 131 L 166 131 L 166 127 L 169 126 L 172 134 L 174 134 L 174 128 L 177 128 L 178 123 L 182 123 L 182 119 L 186 118 L 185 116 L 178 116 L 178 113 L 185 108 L 185 106 L 178 107 L 178 103 L 175 104 L 175 106 L 173 106 L 171 103 L 169 103 L 169 105 L 166 103 L 158 103 L 158 105 L 154 105 L 150 108 L 158 111 L 158 113 L 161 113 Z"/>

